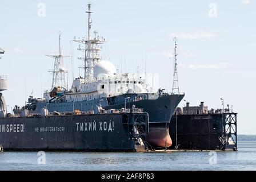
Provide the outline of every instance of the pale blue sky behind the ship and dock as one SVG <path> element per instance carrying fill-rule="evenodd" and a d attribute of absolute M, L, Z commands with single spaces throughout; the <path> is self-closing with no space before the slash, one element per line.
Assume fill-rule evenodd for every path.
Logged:
<path fill-rule="evenodd" d="M 22 106 L 31 94 L 42 97 L 51 87 L 58 32 L 68 82 L 83 76 L 76 59 L 78 44 L 86 36 L 88 1 L 14 1 L 0 3 L 0 75 L 7 75 L 7 109 Z M 178 38 L 178 76 L 181 92 L 190 105 L 204 101 L 209 109 L 233 105 L 238 133 L 256 134 L 255 78 L 256 2 L 254 0 L 94 0 L 93 30 L 104 36 L 102 59 L 122 72 L 159 75 L 159 86 L 171 91 L 173 38 Z M 73 74 L 74 73 L 74 74 Z M 180 106 L 184 106 L 182 101 Z"/>

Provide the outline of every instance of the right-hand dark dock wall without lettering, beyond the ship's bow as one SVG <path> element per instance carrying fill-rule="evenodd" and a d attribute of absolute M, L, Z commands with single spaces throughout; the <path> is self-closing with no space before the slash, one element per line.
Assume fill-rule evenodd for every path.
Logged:
<path fill-rule="evenodd" d="M 172 150 L 237 150 L 237 113 L 200 106 L 177 111 L 170 122 Z"/>

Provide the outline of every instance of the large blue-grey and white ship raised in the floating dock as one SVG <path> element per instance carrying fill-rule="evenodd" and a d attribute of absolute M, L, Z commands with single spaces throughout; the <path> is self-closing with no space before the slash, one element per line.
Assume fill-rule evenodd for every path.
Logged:
<path fill-rule="evenodd" d="M 172 140 L 169 134 L 169 123 L 185 94 L 165 93 L 163 89 L 155 92 L 147 84 L 146 78 L 142 78 L 138 73 L 119 73 L 113 63 L 102 60 L 101 47 L 106 39 L 100 37 L 97 31 L 94 31 L 93 37 L 91 3 L 87 6 L 87 37 L 74 40 L 80 44 L 78 50 L 85 55 L 79 58 L 84 61 L 85 76 L 76 78 L 71 88 L 67 88 L 67 71 L 63 66 L 65 56 L 62 55 L 61 35 L 59 35 L 59 55 L 50 55 L 54 58 L 54 69 L 50 71 L 53 74 L 51 89 L 43 93 L 43 98 L 30 96 L 25 106 L 15 106 L 13 110 L 15 118 L 30 118 L 31 115 L 45 118 L 47 115 L 41 114 L 43 110 L 45 110 L 43 113 L 64 113 L 64 115 L 65 113 L 74 114 L 75 111 L 90 112 L 99 115 L 100 118 L 102 110 L 125 110 L 126 113 L 127 109 L 139 108 L 148 114 L 147 144 L 151 148 L 170 147 Z M 81 44 L 84 45 L 83 48 Z M 3 119 L 0 122 L 3 122 Z M 45 120 L 40 118 L 39 121 Z M 69 119 L 55 118 L 56 123 L 62 121 L 68 122 Z M 51 122 L 51 127 L 54 128 L 53 125 L 54 122 Z M 90 136 L 92 141 L 97 139 L 95 136 Z M 66 136 L 63 135 L 63 137 Z M 118 138 L 118 135 L 116 137 Z"/>

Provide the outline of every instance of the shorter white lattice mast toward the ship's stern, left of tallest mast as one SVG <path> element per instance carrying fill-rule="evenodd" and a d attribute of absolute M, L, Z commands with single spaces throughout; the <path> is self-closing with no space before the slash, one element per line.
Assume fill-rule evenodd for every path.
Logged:
<path fill-rule="evenodd" d="M 66 82 L 66 74 L 67 71 L 65 71 L 64 67 L 64 57 L 69 56 L 63 56 L 61 52 L 61 32 L 59 32 L 59 55 L 46 55 L 47 57 L 52 57 L 54 59 L 54 68 L 53 70 L 50 70 L 49 72 L 53 74 L 53 80 L 51 83 L 51 89 L 60 86 L 61 88 L 68 89 L 67 88 L 67 82 Z"/>

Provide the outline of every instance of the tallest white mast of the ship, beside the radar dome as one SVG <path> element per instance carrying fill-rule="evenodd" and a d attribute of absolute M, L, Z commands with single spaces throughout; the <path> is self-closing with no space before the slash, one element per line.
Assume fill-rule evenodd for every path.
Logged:
<path fill-rule="evenodd" d="M 85 63 L 85 82 L 90 83 L 96 80 L 94 78 L 94 67 L 99 60 L 101 59 L 100 52 L 101 52 L 101 44 L 105 42 L 105 39 L 98 36 L 98 32 L 94 31 L 95 37 L 92 38 L 92 26 L 93 26 L 93 19 L 91 18 L 91 3 L 88 3 L 88 10 L 86 13 L 88 14 L 88 35 L 87 39 L 82 40 L 74 40 L 75 42 L 85 44 L 85 48 L 81 48 L 79 46 L 78 50 L 85 53 L 85 57 L 78 57 L 79 60 L 84 61 Z"/>

